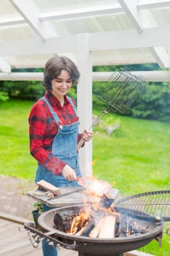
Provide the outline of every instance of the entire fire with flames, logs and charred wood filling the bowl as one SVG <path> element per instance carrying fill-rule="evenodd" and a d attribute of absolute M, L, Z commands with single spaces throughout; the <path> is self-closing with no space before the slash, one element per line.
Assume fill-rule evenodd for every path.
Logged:
<path fill-rule="evenodd" d="M 55 214 L 54 224 L 58 230 L 74 236 L 93 238 L 114 238 L 120 236 L 120 233 L 121 236 L 129 236 L 147 232 L 148 227 L 140 227 L 134 219 L 129 221 L 126 215 L 115 210 L 115 198 L 109 194 L 111 187 L 105 181 L 83 177 L 80 184 L 86 187 L 90 200 L 74 211 L 71 208 L 71 212 L 64 213 L 63 216 Z"/>

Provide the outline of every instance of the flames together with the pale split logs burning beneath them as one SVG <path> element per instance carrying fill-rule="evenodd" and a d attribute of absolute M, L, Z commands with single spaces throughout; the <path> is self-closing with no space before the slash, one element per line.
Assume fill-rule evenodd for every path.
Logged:
<path fill-rule="evenodd" d="M 84 202 L 84 207 L 73 218 L 70 230 L 67 230 L 66 233 L 92 237 L 111 236 L 108 233 L 102 235 L 104 233 L 102 227 L 105 227 L 106 230 L 111 230 L 113 236 L 119 214 L 111 206 L 114 201 L 112 195 L 105 194 L 112 188 L 111 185 L 106 181 L 88 176 L 80 178 L 78 183 L 86 188 L 86 194 L 92 197 L 92 202 L 90 204 Z M 98 200 L 94 200 L 94 198 L 98 198 Z"/>

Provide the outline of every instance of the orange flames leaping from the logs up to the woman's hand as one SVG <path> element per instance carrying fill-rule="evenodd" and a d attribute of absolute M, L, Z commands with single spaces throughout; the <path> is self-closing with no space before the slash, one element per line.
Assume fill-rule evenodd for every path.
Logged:
<path fill-rule="evenodd" d="M 86 188 L 85 193 L 88 195 L 88 198 L 84 198 L 82 209 L 80 209 L 80 213 L 73 218 L 72 225 L 67 233 L 79 234 L 82 229 L 88 226 L 92 218 L 95 219 L 95 222 L 98 222 L 98 219 L 102 216 L 109 214 L 119 216 L 115 211 L 113 205 L 114 198 L 112 195 L 104 194 L 105 191 L 108 193 L 111 189 L 110 184 L 106 181 L 101 181 L 89 176 L 80 178 L 78 183 Z"/>

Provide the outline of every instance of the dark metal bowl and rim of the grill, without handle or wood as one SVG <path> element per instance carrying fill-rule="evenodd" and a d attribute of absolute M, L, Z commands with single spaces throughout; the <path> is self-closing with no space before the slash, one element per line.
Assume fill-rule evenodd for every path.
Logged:
<path fill-rule="evenodd" d="M 54 231 L 55 237 L 68 244 L 76 243 L 74 250 L 77 252 L 82 252 L 85 255 L 119 255 L 123 252 L 129 252 L 134 249 L 138 249 L 157 238 L 163 230 L 163 225 L 160 222 L 159 225 L 155 221 L 147 221 L 146 219 L 136 219 L 134 221 L 138 222 L 141 227 L 149 227 L 149 231 L 144 234 L 131 235 L 126 237 L 117 238 L 90 238 L 86 236 L 75 236 L 72 234 L 64 233 L 56 230 L 53 227 L 53 219 L 56 213 L 61 213 L 67 211 L 72 214 L 72 211 L 82 208 L 82 206 L 65 206 L 61 208 L 53 208 L 50 211 L 46 211 L 41 214 L 38 219 L 38 224 L 45 231 Z"/>

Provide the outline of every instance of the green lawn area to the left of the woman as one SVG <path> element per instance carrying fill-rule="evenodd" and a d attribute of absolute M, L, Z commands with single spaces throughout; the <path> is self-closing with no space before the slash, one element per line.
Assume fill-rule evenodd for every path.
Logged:
<path fill-rule="evenodd" d="M 34 180 L 36 161 L 29 154 L 28 114 L 33 102 L 0 105 L 1 174 Z"/>

